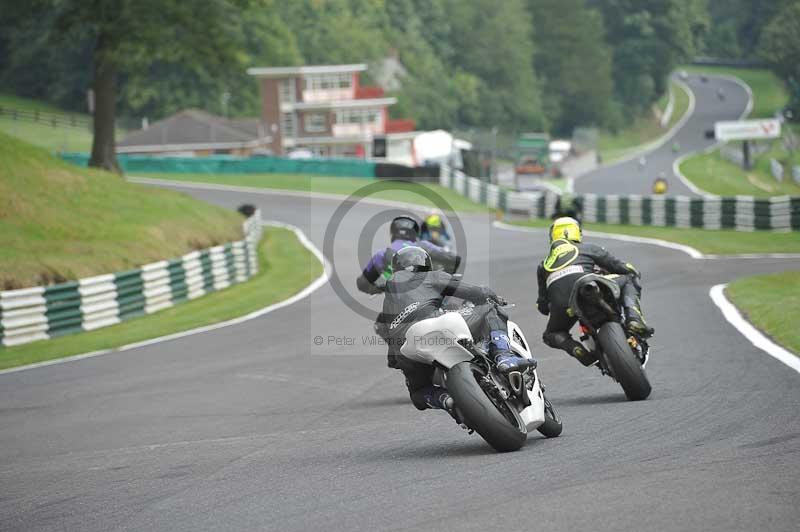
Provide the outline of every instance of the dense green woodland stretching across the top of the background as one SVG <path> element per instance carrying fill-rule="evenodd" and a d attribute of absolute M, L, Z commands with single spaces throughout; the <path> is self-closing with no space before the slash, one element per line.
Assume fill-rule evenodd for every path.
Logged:
<path fill-rule="evenodd" d="M 420 128 L 615 129 L 679 62 L 755 49 L 791 0 L 0 0 L 0 87 L 85 110 L 98 62 L 117 111 L 255 116 L 252 66 L 405 69 L 395 117 Z"/>

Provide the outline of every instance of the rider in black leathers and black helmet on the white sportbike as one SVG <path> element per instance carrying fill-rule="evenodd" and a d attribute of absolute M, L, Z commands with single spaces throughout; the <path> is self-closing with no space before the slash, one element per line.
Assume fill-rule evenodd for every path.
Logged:
<path fill-rule="evenodd" d="M 452 400 L 449 400 L 447 391 L 433 385 L 435 368 L 400 354 L 409 327 L 420 320 L 441 315 L 445 296 L 458 297 L 475 304 L 474 307 L 462 309 L 461 315 L 476 341 L 488 338 L 489 354 L 494 357 L 499 371 L 521 371 L 535 365 L 535 362 L 510 350 L 506 334 L 507 317 L 501 315 L 491 303 L 504 304 L 505 301 L 492 289 L 465 283 L 459 276 L 444 271 L 432 271 L 430 255 L 417 246 L 397 251 L 392 258 L 392 270 L 394 273 L 386 282 L 383 312 L 375 327 L 387 339 L 390 351 L 396 355 L 398 368 L 406 377 L 411 401 L 418 409 L 444 408 L 453 414 Z"/>

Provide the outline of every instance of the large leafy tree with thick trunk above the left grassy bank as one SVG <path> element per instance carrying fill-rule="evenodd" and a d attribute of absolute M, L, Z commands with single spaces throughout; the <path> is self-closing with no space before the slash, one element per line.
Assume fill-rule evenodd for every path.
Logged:
<path fill-rule="evenodd" d="M 237 9 L 255 0 L 36 0 L 34 16 L 53 15 L 51 43 L 91 39 L 94 140 L 90 166 L 119 171 L 115 125 L 121 75 L 154 61 L 203 61 L 218 72 L 240 65 L 227 31 Z"/>

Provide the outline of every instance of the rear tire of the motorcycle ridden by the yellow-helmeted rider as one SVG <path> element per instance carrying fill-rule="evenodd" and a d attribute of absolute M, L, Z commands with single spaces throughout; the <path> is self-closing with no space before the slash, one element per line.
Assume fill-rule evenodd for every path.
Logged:
<path fill-rule="evenodd" d="M 617 322 L 608 322 L 597 331 L 597 342 L 603 348 L 611 373 L 629 401 L 641 401 L 650 395 L 650 381 L 644 368 L 628 345 L 625 330 Z"/>

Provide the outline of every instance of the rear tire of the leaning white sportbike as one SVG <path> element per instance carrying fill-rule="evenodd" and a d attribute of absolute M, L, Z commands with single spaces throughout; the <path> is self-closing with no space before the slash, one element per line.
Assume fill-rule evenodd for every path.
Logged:
<path fill-rule="evenodd" d="M 468 427 L 475 430 L 498 452 L 516 451 L 525 443 L 528 431 L 516 411 L 505 403 L 504 415 L 478 383 L 480 369 L 470 362 L 456 364 L 447 372 L 447 390 Z M 514 419 L 514 423 L 509 418 Z"/>

